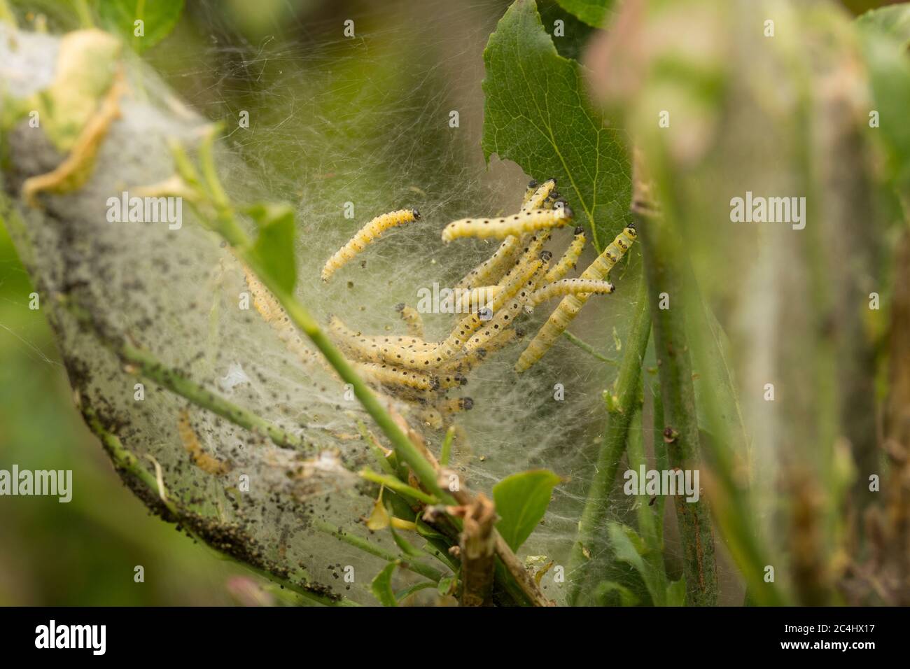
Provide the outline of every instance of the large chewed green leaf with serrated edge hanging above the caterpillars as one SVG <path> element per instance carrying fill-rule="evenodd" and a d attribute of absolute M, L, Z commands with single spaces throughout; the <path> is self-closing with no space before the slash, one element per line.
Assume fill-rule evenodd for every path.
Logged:
<path fill-rule="evenodd" d="M 602 249 L 630 219 L 629 160 L 587 98 L 581 66 L 556 52 L 533 0 L 517 0 L 483 52 L 484 157 L 513 160 L 557 188 Z"/>

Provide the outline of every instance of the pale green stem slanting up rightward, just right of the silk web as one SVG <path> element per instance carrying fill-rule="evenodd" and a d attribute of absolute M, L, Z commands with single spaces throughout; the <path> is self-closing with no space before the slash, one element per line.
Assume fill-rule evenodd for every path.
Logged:
<path fill-rule="evenodd" d="M 635 413 L 641 388 L 642 360 L 648 348 L 648 337 L 651 333 L 651 315 L 648 312 L 647 285 L 642 278 L 639 282 L 638 298 L 632 315 L 632 325 L 626 337 L 627 344 L 622 356 L 619 376 L 616 379 L 616 401 L 607 419 L 607 432 L 603 439 L 601 452 L 597 459 L 594 478 L 588 490 L 588 499 L 581 512 L 578 525 L 578 536 L 572 545 L 569 562 L 571 586 L 568 603 L 576 605 L 587 581 L 588 558 L 585 552 L 589 549 L 598 532 L 605 527 L 609 508 L 610 492 L 616 471 L 619 469 L 622 452 L 626 448 L 629 424 Z"/>

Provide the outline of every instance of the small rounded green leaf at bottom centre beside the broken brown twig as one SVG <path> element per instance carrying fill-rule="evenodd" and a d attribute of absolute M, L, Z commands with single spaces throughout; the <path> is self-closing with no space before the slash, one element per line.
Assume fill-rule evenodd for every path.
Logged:
<path fill-rule="evenodd" d="M 517 551 L 541 522 L 553 488 L 561 478 L 548 470 L 522 471 L 493 486 L 493 502 L 500 522 L 496 529 L 512 551 Z"/>

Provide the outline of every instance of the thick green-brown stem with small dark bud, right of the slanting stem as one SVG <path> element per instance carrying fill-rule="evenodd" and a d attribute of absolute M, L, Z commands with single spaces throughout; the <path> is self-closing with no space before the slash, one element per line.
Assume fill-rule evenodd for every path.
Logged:
<path fill-rule="evenodd" d="M 701 449 L 692 361 L 686 340 L 685 289 L 678 266 L 683 249 L 674 232 L 662 223 L 661 217 L 641 205 L 633 207 L 632 215 L 642 239 L 650 289 L 667 454 L 673 469 L 691 471 L 701 464 Z M 669 309 L 661 309 L 662 296 L 671 300 Z M 717 565 L 707 503 L 701 500 L 686 502 L 682 495 L 676 495 L 674 502 L 682 535 L 686 601 L 694 605 L 716 605 Z"/>

